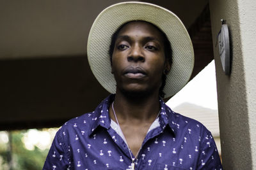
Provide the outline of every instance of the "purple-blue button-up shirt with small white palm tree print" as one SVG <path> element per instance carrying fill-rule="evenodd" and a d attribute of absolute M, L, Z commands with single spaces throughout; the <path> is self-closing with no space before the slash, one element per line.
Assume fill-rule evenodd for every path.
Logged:
<path fill-rule="evenodd" d="M 129 148 L 109 117 L 114 98 L 111 95 L 95 111 L 66 122 L 56 133 L 43 169 L 128 169 Z M 161 99 L 160 103 L 159 125 L 148 131 L 135 169 L 222 169 L 211 132 L 173 112 Z"/>

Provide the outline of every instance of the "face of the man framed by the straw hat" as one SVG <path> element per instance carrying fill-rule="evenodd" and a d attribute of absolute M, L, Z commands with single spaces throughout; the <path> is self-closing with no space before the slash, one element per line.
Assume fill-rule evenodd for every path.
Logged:
<path fill-rule="evenodd" d="M 129 22 L 118 33 L 112 62 L 116 90 L 158 92 L 166 67 L 161 32 L 147 22 Z"/>

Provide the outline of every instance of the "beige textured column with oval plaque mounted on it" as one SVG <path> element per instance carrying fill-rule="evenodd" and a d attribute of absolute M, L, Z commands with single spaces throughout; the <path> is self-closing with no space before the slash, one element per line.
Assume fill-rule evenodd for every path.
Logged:
<path fill-rule="evenodd" d="M 212 39 L 227 20 L 231 74 L 221 67 L 214 48 L 221 156 L 224 169 L 256 169 L 256 1 L 210 0 Z"/>

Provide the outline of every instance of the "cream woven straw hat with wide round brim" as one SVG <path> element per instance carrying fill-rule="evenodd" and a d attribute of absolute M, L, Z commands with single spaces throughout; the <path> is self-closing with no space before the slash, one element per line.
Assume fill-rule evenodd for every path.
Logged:
<path fill-rule="evenodd" d="M 113 33 L 126 22 L 144 20 L 161 29 L 172 46 L 172 66 L 166 76 L 164 98 L 179 92 L 191 76 L 194 52 L 188 31 L 171 11 L 149 3 L 125 2 L 109 6 L 93 22 L 88 36 L 87 55 L 92 73 L 111 94 L 116 92 L 116 81 L 111 73 L 109 45 Z"/>

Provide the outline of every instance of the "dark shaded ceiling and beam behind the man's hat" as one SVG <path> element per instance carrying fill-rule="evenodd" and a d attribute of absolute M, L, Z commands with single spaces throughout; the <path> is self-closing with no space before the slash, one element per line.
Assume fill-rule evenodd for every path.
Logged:
<path fill-rule="evenodd" d="M 3 38 L 0 40 L 0 129 L 59 127 L 72 117 L 94 110 L 97 104 L 108 96 L 108 92 L 99 85 L 90 71 L 84 46 L 94 18 L 106 6 L 117 1 L 102 1 L 102 4 L 98 1 L 76 1 L 72 6 L 68 6 L 68 1 L 63 1 L 67 4 L 62 6 L 48 1 L 52 3 L 53 11 L 57 6 L 60 8 L 56 16 L 52 16 L 52 9 L 44 1 L 40 4 L 33 1 L 29 1 L 31 4 L 15 2 L 17 4 L 4 4 L 4 11 L 0 10 L 1 13 L 10 15 L 4 19 L 1 17 L 1 20 L 12 25 L 9 30 L 12 32 L 5 32 L 4 41 Z M 191 78 L 213 59 L 209 8 L 206 1 L 198 2 L 200 3 L 184 7 L 186 1 L 157 1 L 157 4 L 174 11 L 185 21 L 195 51 L 195 68 Z M 10 8 L 13 5 L 16 5 L 13 11 L 17 10 L 17 13 L 6 11 L 6 6 Z M 29 5 L 32 9 L 29 9 Z M 190 9 L 192 5 L 197 8 L 189 11 L 187 8 Z M 22 13 L 19 9 L 22 6 L 26 6 L 30 11 Z M 0 8 L 3 8 L 3 5 Z M 81 16 L 84 9 L 93 10 L 86 11 Z M 184 10 L 179 12 L 180 9 Z M 49 13 L 44 14 L 44 11 Z M 64 15 L 63 11 L 67 13 Z M 40 13 L 45 15 L 45 18 Z M 70 18 L 68 13 L 74 15 L 76 20 Z M 16 23 L 9 20 L 13 16 L 22 18 L 30 16 L 29 14 L 42 21 L 20 20 Z M 88 18 L 84 19 L 84 15 Z M 46 20 L 47 18 L 50 19 Z M 68 26 L 63 24 L 63 21 L 67 22 Z M 54 22 L 59 22 L 59 25 Z M 76 23 L 81 23 L 79 28 L 75 26 Z M 26 32 L 24 24 L 31 24 L 33 27 Z M 35 27 L 49 30 L 42 32 L 34 30 Z M 0 27 L 1 34 L 3 31 L 3 27 Z M 47 37 L 48 34 L 52 37 Z"/>

